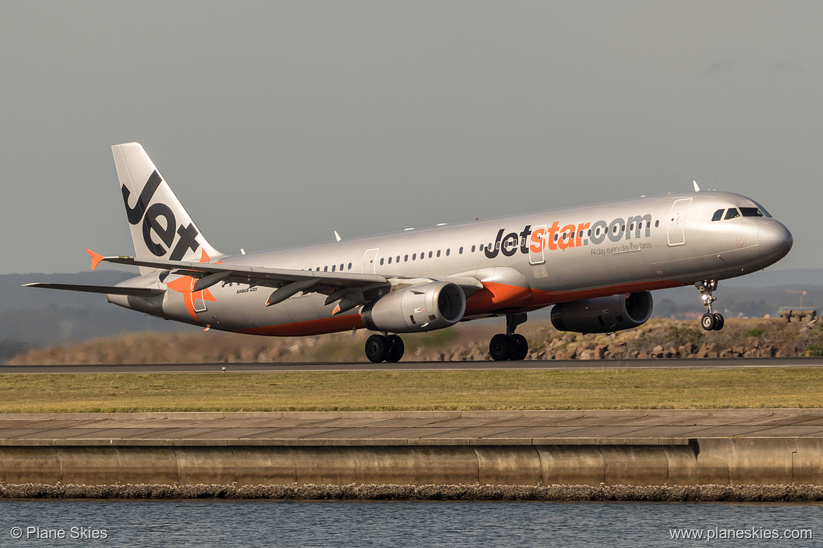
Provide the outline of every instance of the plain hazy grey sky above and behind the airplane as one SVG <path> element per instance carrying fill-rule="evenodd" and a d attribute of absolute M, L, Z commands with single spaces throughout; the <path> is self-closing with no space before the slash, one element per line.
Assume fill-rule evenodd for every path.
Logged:
<path fill-rule="evenodd" d="M 823 267 L 821 2 L 2 2 L 8 272 L 132 254 L 141 142 L 224 253 L 703 188 Z M 773 267 L 774 268 L 774 267 Z"/>

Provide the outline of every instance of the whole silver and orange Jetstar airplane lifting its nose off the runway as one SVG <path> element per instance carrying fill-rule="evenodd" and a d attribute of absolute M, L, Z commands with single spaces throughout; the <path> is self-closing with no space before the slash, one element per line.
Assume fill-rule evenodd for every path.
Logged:
<path fill-rule="evenodd" d="M 134 257 L 91 255 L 134 265 L 117 286 L 29 286 L 105 294 L 110 303 L 223 331 L 296 337 L 376 332 L 369 360 L 402 358 L 397 333 L 506 318 L 491 339 L 494 360 L 522 360 L 515 328 L 554 305 L 564 331 L 638 327 L 652 313 L 649 291 L 695 285 L 704 329 L 723 327 L 712 310 L 718 280 L 783 258 L 792 235 L 751 198 L 700 190 L 566 207 L 391 234 L 226 255 L 213 248 L 137 143 L 112 146 Z"/>

